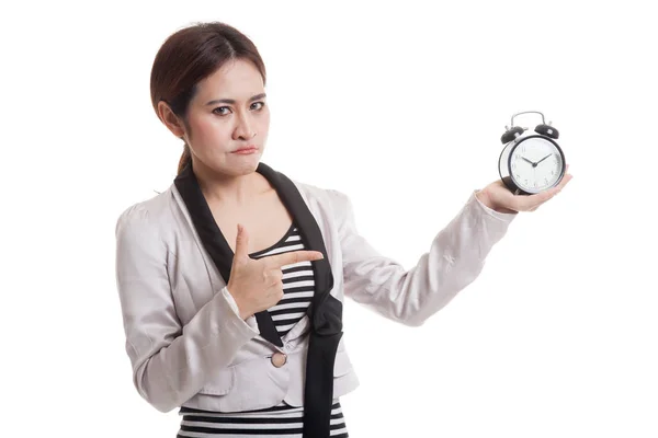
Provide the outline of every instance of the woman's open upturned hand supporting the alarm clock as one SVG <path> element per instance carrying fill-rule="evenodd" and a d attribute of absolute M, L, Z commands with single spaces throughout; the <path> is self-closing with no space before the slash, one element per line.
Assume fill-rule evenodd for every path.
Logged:
<path fill-rule="evenodd" d="M 559 184 L 536 195 L 514 195 L 502 181 L 498 180 L 477 192 L 476 196 L 487 207 L 499 212 L 534 211 L 542 204 L 557 195 L 571 181 L 574 176 L 567 173 L 568 171 L 569 165 L 567 164 L 565 176 Z"/>

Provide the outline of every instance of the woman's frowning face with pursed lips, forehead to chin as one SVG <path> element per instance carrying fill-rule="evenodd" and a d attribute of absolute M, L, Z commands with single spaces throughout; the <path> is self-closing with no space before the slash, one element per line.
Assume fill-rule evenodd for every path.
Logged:
<path fill-rule="evenodd" d="M 263 153 L 270 129 L 263 78 L 248 60 L 237 59 L 198 82 L 188 110 L 185 132 L 193 165 L 227 175 L 253 172 Z M 250 154 L 232 153 L 254 146 Z"/>

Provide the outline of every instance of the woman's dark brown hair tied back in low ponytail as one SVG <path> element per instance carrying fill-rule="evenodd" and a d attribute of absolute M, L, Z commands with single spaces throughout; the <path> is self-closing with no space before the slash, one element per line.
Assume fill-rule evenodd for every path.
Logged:
<path fill-rule="evenodd" d="M 253 62 L 265 83 L 265 66 L 256 45 L 235 27 L 219 22 L 195 23 L 170 35 L 151 68 L 150 93 L 156 114 L 158 102 L 164 101 L 191 135 L 188 106 L 196 94 L 197 83 L 234 59 Z M 179 174 L 190 160 L 190 146 L 185 143 Z"/>

